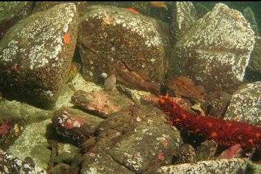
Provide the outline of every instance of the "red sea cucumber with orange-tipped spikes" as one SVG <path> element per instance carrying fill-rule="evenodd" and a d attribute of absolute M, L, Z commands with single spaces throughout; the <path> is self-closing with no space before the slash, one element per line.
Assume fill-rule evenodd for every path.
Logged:
<path fill-rule="evenodd" d="M 261 128 L 246 122 L 235 120 L 222 120 L 213 116 L 202 117 L 193 114 L 173 100 L 161 97 L 159 108 L 167 115 L 171 124 L 184 127 L 187 131 L 202 135 L 206 140 L 214 140 L 218 145 L 232 146 L 241 144 L 261 150 Z"/>

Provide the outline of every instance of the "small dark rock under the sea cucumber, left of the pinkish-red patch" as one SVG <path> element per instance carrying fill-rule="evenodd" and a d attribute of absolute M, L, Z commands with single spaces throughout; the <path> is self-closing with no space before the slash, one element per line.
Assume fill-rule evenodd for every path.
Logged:
<path fill-rule="evenodd" d="M 218 144 L 213 140 L 206 140 L 197 148 L 196 159 L 197 161 L 211 160 L 215 155 Z"/>

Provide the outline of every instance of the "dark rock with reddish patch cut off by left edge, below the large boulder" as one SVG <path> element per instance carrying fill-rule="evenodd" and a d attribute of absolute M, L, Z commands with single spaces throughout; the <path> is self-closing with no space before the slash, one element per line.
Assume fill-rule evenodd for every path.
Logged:
<path fill-rule="evenodd" d="M 24 129 L 21 118 L 8 118 L 0 112 L 0 149 L 6 149 L 14 142 Z"/>

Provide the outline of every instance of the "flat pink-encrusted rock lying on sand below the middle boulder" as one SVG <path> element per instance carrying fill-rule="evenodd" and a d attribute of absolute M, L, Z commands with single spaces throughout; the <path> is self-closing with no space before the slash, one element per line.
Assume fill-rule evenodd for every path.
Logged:
<path fill-rule="evenodd" d="M 104 118 L 124 107 L 132 105 L 133 102 L 119 93 L 119 91 L 92 91 L 90 93 L 78 90 L 72 96 L 75 105 L 93 111 Z"/>

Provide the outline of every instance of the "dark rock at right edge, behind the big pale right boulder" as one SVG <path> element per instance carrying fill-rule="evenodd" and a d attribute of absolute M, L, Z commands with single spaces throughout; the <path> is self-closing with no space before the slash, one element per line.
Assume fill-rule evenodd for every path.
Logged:
<path fill-rule="evenodd" d="M 255 38 L 255 45 L 249 65 L 246 68 L 246 75 L 244 76 L 250 82 L 261 81 L 261 37 Z"/>

